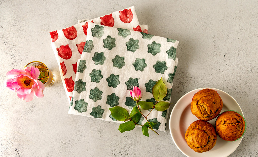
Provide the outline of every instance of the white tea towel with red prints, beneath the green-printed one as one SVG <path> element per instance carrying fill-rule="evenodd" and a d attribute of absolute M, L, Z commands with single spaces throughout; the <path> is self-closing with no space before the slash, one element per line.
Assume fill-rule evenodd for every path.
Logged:
<path fill-rule="evenodd" d="M 146 27 L 140 27 L 134 6 L 99 18 L 81 22 L 62 30 L 50 32 L 52 48 L 59 65 L 61 79 L 69 103 L 74 90 L 77 61 L 80 59 L 83 52 L 88 23 L 91 22 L 109 27 L 147 32 Z"/>

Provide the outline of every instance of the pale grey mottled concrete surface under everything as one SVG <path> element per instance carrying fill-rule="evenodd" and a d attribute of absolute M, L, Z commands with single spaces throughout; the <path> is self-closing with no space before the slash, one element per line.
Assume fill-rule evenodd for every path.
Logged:
<path fill-rule="evenodd" d="M 171 102 L 187 92 L 213 87 L 239 103 L 246 133 L 230 155 L 258 156 L 257 1 L 0 1 L 0 82 L 6 72 L 39 60 L 56 81 L 44 97 L 25 102 L 0 86 L 0 156 L 185 156 L 169 127 L 150 137 L 137 127 L 120 133 L 118 123 L 69 115 L 67 98 L 51 48 L 50 31 L 79 19 L 134 5 L 149 33 L 179 40 Z M 168 119 L 169 120 L 169 119 Z"/>

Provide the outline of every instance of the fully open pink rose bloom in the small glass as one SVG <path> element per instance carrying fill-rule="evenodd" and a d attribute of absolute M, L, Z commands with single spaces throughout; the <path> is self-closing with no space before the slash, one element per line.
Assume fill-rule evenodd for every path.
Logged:
<path fill-rule="evenodd" d="M 44 96 L 44 84 L 37 80 L 39 76 L 38 68 L 33 66 L 22 69 L 13 69 L 6 73 L 8 79 L 4 82 L 5 87 L 15 91 L 18 98 L 29 102 Z"/>

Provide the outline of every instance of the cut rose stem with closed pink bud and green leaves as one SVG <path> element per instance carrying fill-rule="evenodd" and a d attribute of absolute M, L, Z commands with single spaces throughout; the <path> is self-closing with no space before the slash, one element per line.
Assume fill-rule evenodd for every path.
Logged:
<path fill-rule="evenodd" d="M 130 93 L 131 93 L 132 99 L 136 101 L 136 106 L 132 109 L 130 115 L 125 108 L 120 106 L 115 106 L 109 109 L 111 111 L 111 115 L 113 118 L 119 121 L 124 121 L 124 123 L 119 125 L 118 130 L 121 133 L 125 131 L 133 130 L 135 128 L 135 125 L 140 125 L 137 123 L 143 116 L 147 120 L 146 123 L 144 123 L 143 125 L 140 125 L 142 126 L 143 135 L 149 136 L 149 133 L 148 133 L 149 129 L 154 131 L 156 134 L 158 134 L 153 129 L 157 123 L 153 123 L 149 121 L 147 117 L 149 116 L 149 114 L 153 109 L 156 109 L 157 111 L 164 111 L 168 109 L 170 106 L 169 102 L 161 101 L 167 94 L 167 87 L 162 81 L 162 78 L 159 81 L 157 81 L 157 83 L 152 88 L 152 95 L 153 95 L 153 98 L 156 100 L 155 104 L 153 102 L 139 101 L 142 98 L 142 93 L 138 87 L 134 87 L 133 90 L 130 90 Z M 151 111 L 147 116 L 144 116 L 141 109 L 142 110 L 151 109 Z"/>

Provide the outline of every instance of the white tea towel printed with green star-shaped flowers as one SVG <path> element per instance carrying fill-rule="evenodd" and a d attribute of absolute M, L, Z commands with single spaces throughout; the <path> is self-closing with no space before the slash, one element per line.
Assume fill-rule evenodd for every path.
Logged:
<path fill-rule="evenodd" d="M 179 41 L 95 23 L 88 23 L 87 32 L 69 114 L 116 121 L 109 108 L 121 106 L 130 113 L 136 105 L 129 92 L 133 86 L 139 86 L 143 101 L 155 103 L 151 92 L 160 77 L 168 88 L 163 100 L 170 102 Z M 148 116 L 157 123 L 154 129 L 162 131 L 166 118 L 167 110 L 155 110 Z M 142 117 L 138 124 L 145 122 Z"/>

